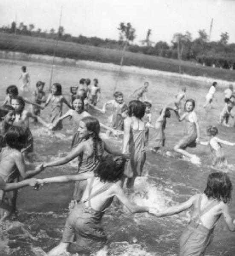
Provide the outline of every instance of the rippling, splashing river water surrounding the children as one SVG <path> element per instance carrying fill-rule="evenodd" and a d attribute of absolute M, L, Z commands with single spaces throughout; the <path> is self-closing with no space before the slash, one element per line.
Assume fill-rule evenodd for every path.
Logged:
<path fill-rule="evenodd" d="M 20 66 L 26 64 L 31 75 L 32 87 L 36 81 L 46 81 L 49 84 L 50 66 L 31 62 L 2 62 L 0 74 L 2 86 L 0 87 L 0 100 L 5 97 L 5 89 L 9 84 L 17 84 L 20 76 Z M 90 79 L 98 78 L 102 88 L 102 98 L 99 106 L 112 99 L 113 88 L 117 74 L 114 72 L 78 69 L 75 67 L 56 67 L 54 70 L 54 82 L 60 82 L 63 86 L 63 94 L 68 96 L 69 87 L 78 84 L 82 77 Z M 118 90 L 124 93 L 126 101 L 136 87 L 147 80 L 150 82 L 149 99 L 153 102 L 153 122 L 157 119 L 162 106 L 170 103 L 180 86 L 187 87 L 186 98 L 196 101 L 196 113 L 200 122 L 201 140 L 206 140 L 206 126 L 218 125 L 218 117 L 223 108 L 223 94 L 217 92 L 215 95 L 214 108 L 209 111 L 202 110 L 205 95 L 209 84 L 183 78 L 173 79 L 162 76 L 139 76 L 136 74 L 122 74 Z M 47 88 L 45 91 L 47 93 Z M 29 95 L 28 95 L 29 96 Z M 42 111 L 41 116 L 49 117 L 49 107 Z M 156 110 L 157 109 L 157 110 Z M 64 112 L 67 108 L 64 109 Z M 92 112 L 102 122 L 106 122 L 108 113 L 100 114 Z M 233 120 L 231 120 L 232 124 Z M 69 152 L 71 136 L 75 130 L 73 122 L 65 120 L 64 129 L 61 132 L 51 134 L 46 129 L 31 124 L 31 130 L 35 139 L 35 162 L 46 162 Z M 235 142 L 234 128 L 218 125 L 218 137 Z M 173 148 L 183 134 L 183 123 L 179 123 L 175 116 L 168 120 L 166 125 L 166 148 Z M 153 146 L 154 132 L 150 133 L 149 146 Z M 120 148 L 121 142 L 112 139 L 113 146 Z M 180 159 L 164 157 L 158 154 L 147 153 L 145 163 L 145 177 L 136 180 L 135 193 L 131 196 L 137 204 L 164 209 L 178 202 L 183 202 L 199 191 L 203 192 L 206 179 L 212 170 L 211 155 L 209 147 L 199 145 L 197 148 L 189 149 L 201 159 L 201 166 Z M 224 146 L 224 152 L 229 164 L 235 162 L 234 148 Z M 76 172 L 76 161 L 64 166 L 46 169 L 38 177 L 51 177 L 55 175 L 73 174 Z M 234 171 L 229 170 L 232 183 L 235 183 Z M 34 256 L 45 255 L 52 247 L 57 245 L 61 239 L 64 223 L 67 217 L 68 202 L 72 198 L 73 184 L 49 184 L 40 191 L 31 188 L 20 189 L 17 207 L 19 209 L 18 221 L 6 224 L 5 231 L 2 230 L 3 240 L 0 255 L 11 256 Z M 235 198 L 235 192 L 232 193 Z M 230 212 L 235 216 L 235 203 L 230 204 Z M 114 201 L 110 209 L 104 215 L 104 230 L 106 231 L 111 245 L 110 255 L 122 256 L 171 256 L 177 255 L 180 234 L 189 221 L 189 211 L 167 218 L 154 218 L 148 214 L 132 215 L 125 207 Z M 10 228 L 9 226 L 12 225 Z M 233 256 L 235 255 L 235 235 L 230 233 L 223 219 L 220 219 L 215 228 L 215 238 L 208 248 L 208 256 Z M 6 247 L 8 244 L 8 247 Z M 96 255 L 107 255 L 102 250 Z"/>

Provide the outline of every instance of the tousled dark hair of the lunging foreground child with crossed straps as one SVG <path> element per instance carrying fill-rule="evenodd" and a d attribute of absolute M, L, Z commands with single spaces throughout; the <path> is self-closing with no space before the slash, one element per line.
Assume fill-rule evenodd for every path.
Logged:
<path fill-rule="evenodd" d="M 107 155 L 102 158 L 99 167 L 94 171 L 95 177 L 102 182 L 116 182 L 123 176 L 126 160 L 123 157 Z"/>

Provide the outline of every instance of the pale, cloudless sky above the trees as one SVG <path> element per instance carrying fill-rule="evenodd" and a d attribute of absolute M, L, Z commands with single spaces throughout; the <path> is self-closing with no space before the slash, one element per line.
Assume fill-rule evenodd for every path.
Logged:
<path fill-rule="evenodd" d="M 189 31 L 192 38 L 198 30 L 209 34 L 211 41 L 220 40 L 228 32 L 229 43 L 235 43 L 235 0 L 0 0 L 0 26 L 16 19 L 35 29 L 57 29 L 62 7 L 61 24 L 65 33 L 74 36 L 119 38 L 119 23 L 130 22 L 136 29 L 134 43 L 146 38 L 151 29 L 151 41 L 166 41 L 174 33 Z"/>

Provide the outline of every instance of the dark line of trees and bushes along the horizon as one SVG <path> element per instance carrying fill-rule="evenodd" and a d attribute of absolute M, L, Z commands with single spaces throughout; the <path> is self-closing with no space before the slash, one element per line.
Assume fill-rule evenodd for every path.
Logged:
<path fill-rule="evenodd" d="M 147 55 L 155 55 L 164 58 L 182 59 L 195 61 L 200 64 L 212 67 L 226 69 L 235 69 L 235 44 L 228 44 L 229 35 L 227 32 L 220 34 L 219 41 L 209 41 L 209 35 L 205 29 L 198 31 L 198 37 L 192 39 L 190 32 L 175 33 L 172 37 L 171 44 L 165 41 L 158 41 L 156 44 L 139 46 L 134 44 L 136 30 L 131 23 L 119 24 L 119 40 L 102 39 L 98 37 L 86 37 L 84 35 L 72 36 L 65 32 L 63 26 L 49 31 L 42 31 L 40 28 L 35 29 L 34 24 L 25 25 L 23 22 L 17 24 L 12 22 L 11 26 L 2 26 L 1 32 L 15 33 L 19 35 L 30 35 L 33 37 L 54 39 L 73 42 L 77 44 L 86 44 L 96 47 L 107 47 L 110 49 L 124 49 L 130 52 L 138 52 Z M 148 30 L 149 33 L 150 30 Z M 145 40 L 144 40 L 145 41 Z"/>

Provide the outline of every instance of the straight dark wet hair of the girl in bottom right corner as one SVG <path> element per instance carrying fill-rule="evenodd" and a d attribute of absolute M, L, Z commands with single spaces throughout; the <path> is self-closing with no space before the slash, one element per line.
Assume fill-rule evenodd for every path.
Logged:
<path fill-rule="evenodd" d="M 213 172 L 208 176 L 204 194 L 225 204 L 231 200 L 232 183 L 225 172 Z"/>

